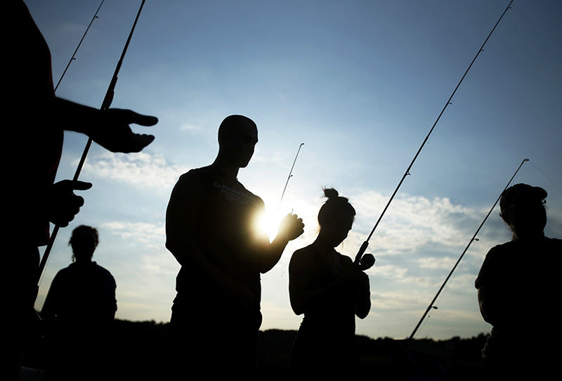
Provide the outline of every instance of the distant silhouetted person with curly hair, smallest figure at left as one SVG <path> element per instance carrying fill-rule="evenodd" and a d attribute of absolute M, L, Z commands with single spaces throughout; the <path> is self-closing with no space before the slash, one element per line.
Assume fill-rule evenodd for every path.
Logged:
<path fill-rule="evenodd" d="M 48 326 L 47 380 L 107 379 L 112 322 L 117 311 L 115 279 L 92 261 L 98 231 L 72 231 L 74 263 L 58 271 L 41 316 Z"/>

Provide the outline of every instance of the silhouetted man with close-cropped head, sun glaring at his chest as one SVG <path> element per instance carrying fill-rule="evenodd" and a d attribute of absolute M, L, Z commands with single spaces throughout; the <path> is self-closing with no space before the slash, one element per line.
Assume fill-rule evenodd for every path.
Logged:
<path fill-rule="evenodd" d="M 256 232 L 263 201 L 236 177 L 257 142 L 252 120 L 226 117 L 213 164 L 183 174 L 171 193 L 166 247 L 181 270 L 169 337 L 178 379 L 254 372 L 260 273 L 272 269 L 289 240 L 303 233 L 296 214 L 287 214 L 272 243 Z"/>

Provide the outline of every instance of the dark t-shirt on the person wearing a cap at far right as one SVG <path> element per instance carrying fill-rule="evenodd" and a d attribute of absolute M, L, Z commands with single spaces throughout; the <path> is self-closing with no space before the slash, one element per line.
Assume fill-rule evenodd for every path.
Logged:
<path fill-rule="evenodd" d="M 495 322 L 489 351 L 537 351 L 558 329 L 562 240 L 513 240 L 486 254 L 475 287 L 492 292 L 505 318 Z M 526 352 L 526 350 L 525 350 Z"/>

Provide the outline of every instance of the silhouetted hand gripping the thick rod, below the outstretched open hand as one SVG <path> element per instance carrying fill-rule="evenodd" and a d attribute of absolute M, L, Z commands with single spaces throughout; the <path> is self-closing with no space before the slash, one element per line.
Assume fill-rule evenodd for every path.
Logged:
<path fill-rule="evenodd" d="M 91 186 L 91 183 L 72 180 L 54 183 L 48 189 L 45 200 L 48 220 L 63 228 L 68 226 L 84 205 L 84 198 L 75 195 L 73 191 L 85 191 Z"/>

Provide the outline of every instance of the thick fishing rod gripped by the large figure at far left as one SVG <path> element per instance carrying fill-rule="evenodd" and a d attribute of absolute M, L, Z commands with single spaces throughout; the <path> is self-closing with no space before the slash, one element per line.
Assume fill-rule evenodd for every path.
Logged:
<path fill-rule="evenodd" d="M 103 98 L 103 102 L 102 102 L 101 107 L 100 107 L 100 110 L 102 110 L 102 111 L 110 108 L 110 105 L 113 101 L 115 84 L 117 84 L 117 74 L 119 73 L 119 70 L 121 69 L 121 65 L 123 63 L 125 53 L 127 51 L 127 48 L 129 47 L 129 42 L 131 42 L 131 37 L 133 37 L 133 32 L 135 31 L 136 22 L 138 21 L 138 17 L 141 15 L 141 11 L 143 11 L 144 5 L 145 5 L 145 0 L 143 0 L 143 2 L 141 3 L 141 7 L 138 8 L 138 13 L 136 14 L 135 22 L 133 22 L 133 27 L 131 27 L 131 32 L 129 33 L 129 38 L 127 38 L 127 41 L 126 41 L 125 46 L 123 48 L 123 51 L 121 53 L 121 57 L 119 58 L 119 62 L 117 62 L 117 67 L 115 67 L 115 72 L 113 73 L 113 77 L 111 79 L 110 85 L 107 87 L 107 92 L 105 93 L 105 97 Z M 84 147 L 84 152 L 82 153 L 82 156 L 80 157 L 80 162 L 78 163 L 78 167 L 76 169 L 76 172 L 74 172 L 74 177 L 72 178 L 72 181 L 78 180 L 78 177 L 80 176 L 80 172 L 82 170 L 82 167 L 84 167 L 84 162 L 86 161 L 86 156 L 88 155 L 88 151 L 90 150 L 91 144 L 92 144 L 92 138 L 88 138 L 86 146 Z M 53 249 L 53 245 L 55 243 L 55 238 L 58 234 L 59 228 L 60 228 L 60 226 L 58 226 L 58 225 L 55 225 L 55 228 L 53 228 L 53 233 L 51 234 L 51 240 L 49 240 L 48 245 L 47 245 L 47 247 L 45 249 L 45 252 L 43 254 L 43 257 L 41 258 L 41 263 L 39 264 L 39 273 L 38 273 L 38 278 L 37 278 L 38 281 L 39 281 L 39 279 L 41 279 L 41 275 L 43 274 L 43 271 L 45 269 L 45 265 L 47 263 L 48 256 L 49 256 L 49 254 L 51 254 L 51 250 Z"/>

